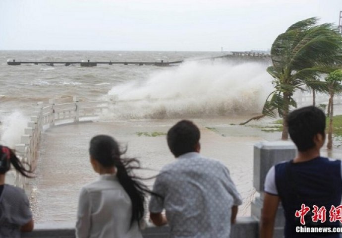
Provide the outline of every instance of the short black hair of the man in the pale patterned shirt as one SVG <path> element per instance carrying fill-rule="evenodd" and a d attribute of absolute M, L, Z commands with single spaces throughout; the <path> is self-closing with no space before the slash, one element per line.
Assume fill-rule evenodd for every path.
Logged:
<path fill-rule="evenodd" d="M 195 151 L 200 139 L 198 127 L 190 120 L 181 120 L 168 131 L 168 145 L 175 157 Z"/>

